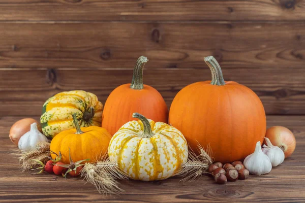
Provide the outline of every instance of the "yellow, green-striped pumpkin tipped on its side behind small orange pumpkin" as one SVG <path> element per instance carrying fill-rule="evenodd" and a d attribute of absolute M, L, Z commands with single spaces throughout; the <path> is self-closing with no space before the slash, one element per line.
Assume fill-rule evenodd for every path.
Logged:
<path fill-rule="evenodd" d="M 42 131 L 53 138 L 61 131 L 74 128 L 72 114 L 76 114 L 81 127 L 101 126 L 103 105 L 90 92 L 74 90 L 60 92 L 46 100 L 40 117 Z"/>

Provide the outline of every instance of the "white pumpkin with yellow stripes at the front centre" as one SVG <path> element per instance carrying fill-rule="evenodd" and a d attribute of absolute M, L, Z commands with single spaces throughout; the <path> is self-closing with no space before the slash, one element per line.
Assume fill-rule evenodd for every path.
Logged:
<path fill-rule="evenodd" d="M 166 123 L 133 114 L 138 121 L 123 125 L 110 140 L 108 155 L 131 179 L 154 181 L 178 172 L 188 158 L 183 134 Z"/>

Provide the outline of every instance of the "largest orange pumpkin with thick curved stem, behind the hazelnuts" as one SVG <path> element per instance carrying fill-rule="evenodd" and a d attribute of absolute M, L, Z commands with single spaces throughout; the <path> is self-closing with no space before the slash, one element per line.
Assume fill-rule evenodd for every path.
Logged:
<path fill-rule="evenodd" d="M 204 60 L 212 80 L 193 83 L 178 92 L 170 107 L 169 124 L 184 134 L 194 151 L 198 143 L 210 145 L 216 161 L 242 160 L 264 140 L 264 107 L 248 87 L 224 81 L 213 56 Z"/>

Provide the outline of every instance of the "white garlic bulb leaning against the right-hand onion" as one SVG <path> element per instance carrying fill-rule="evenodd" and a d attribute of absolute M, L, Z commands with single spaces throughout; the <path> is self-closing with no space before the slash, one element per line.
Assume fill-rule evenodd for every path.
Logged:
<path fill-rule="evenodd" d="M 278 166 L 283 163 L 285 154 L 283 150 L 277 146 L 273 146 L 268 138 L 265 138 L 267 146 L 264 145 L 262 151 L 269 157 L 272 166 Z"/>

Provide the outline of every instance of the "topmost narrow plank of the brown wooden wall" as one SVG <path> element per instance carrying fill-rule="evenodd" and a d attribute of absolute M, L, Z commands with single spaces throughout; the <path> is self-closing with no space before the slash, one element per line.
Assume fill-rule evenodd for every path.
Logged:
<path fill-rule="evenodd" d="M 299 0 L 1 0 L 0 20 L 304 20 Z"/>

